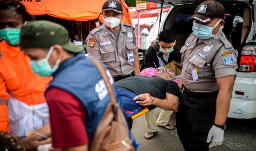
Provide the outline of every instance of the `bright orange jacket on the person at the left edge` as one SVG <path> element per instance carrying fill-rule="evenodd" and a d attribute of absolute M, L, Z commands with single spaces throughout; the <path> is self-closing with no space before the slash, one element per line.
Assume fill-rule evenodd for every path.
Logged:
<path fill-rule="evenodd" d="M 0 43 L 0 100 L 8 101 L 9 95 L 28 105 L 44 103 L 44 92 L 52 80 L 35 74 L 29 57 L 19 48 Z M 0 106 L 0 131 L 8 132 L 6 105 Z M 2 112 L 3 111 L 3 112 Z"/>

